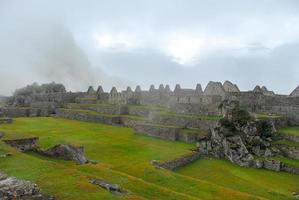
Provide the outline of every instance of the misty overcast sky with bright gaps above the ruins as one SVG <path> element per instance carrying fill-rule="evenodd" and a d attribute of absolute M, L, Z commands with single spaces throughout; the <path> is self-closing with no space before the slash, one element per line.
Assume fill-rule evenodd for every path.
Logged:
<path fill-rule="evenodd" d="M 231 80 L 299 85 L 297 0 L 0 0 L 0 94 Z"/>

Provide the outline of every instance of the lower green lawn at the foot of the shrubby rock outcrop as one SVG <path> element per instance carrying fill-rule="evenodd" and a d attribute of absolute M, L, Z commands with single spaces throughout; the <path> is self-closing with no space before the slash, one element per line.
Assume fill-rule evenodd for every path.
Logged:
<path fill-rule="evenodd" d="M 292 192 L 299 191 L 297 175 L 239 167 L 218 159 L 203 158 L 177 173 L 267 199 L 293 199 Z"/>

